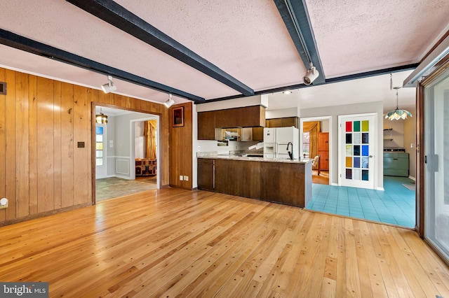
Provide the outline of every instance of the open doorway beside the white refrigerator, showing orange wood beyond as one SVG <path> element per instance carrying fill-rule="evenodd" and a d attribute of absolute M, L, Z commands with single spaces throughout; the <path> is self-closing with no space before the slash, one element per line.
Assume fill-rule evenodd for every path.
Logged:
<path fill-rule="evenodd" d="M 300 136 L 302 156 L 312 159 L 312 183 L 330 184 L 330 117 L 302 118 Z"/>

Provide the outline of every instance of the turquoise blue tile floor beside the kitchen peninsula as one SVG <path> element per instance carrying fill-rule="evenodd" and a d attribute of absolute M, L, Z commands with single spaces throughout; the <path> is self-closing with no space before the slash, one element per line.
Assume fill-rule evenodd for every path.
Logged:
<path fill-rule="evenodd" d="M 332 185 L 312 185 L 307 209 L 415 227 L 415 190 L 406 177 L 384 176 L 384 191 Z"/>

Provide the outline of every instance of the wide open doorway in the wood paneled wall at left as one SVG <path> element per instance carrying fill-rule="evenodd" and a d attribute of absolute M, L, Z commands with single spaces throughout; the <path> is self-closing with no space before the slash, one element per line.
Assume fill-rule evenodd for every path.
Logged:
<path fill-rule="evenodd" d="M 95 123 L 94 204 L 160 188 L 159 115 L 109 106 L 94 106 L 94 109 L 95 115 L 102 113 L 107 118 L 107 123 Z M 145 125 L 152 129 L 146 132 Z M 147 143 L 152 145 L 150 155 L 146 152 Z"/>

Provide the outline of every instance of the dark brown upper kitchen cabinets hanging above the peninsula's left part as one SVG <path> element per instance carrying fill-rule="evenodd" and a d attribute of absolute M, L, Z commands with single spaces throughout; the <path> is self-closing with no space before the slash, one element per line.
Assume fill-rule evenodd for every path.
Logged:
<path fill-rule="evenodd" d="M 246 106 L 198 113 L 198 139 L 215 140 L 215 128 L 264 127 L 264 106 Z M 258 136 L 258 134 L 257 134 Z"/>

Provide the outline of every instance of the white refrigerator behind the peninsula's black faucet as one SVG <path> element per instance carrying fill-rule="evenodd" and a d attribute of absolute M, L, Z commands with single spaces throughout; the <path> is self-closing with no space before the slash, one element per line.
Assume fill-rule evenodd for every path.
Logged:
<path fill-rule="evenodd" d="M 290 144 L 291 143 L 291 144 Z M 296 127 L 264 128 L 264 157 L 300 158 L 300 131 Z"/>

